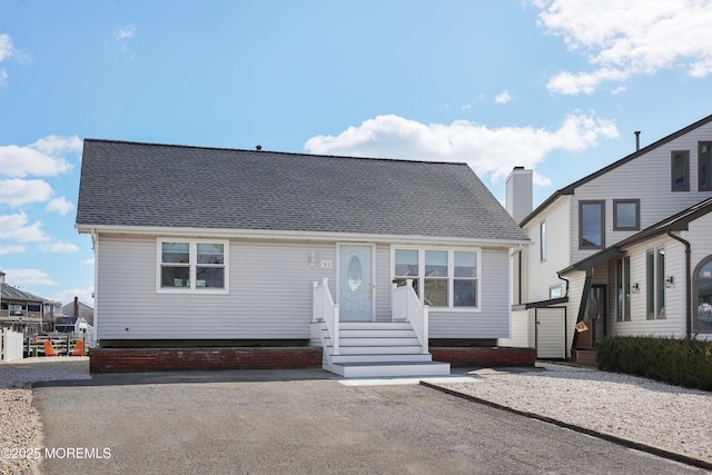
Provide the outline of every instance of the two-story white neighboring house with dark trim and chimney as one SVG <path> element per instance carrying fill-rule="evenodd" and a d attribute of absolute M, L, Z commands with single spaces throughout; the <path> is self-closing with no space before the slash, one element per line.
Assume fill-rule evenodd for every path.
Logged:
<path fill-rule="evenodd" d="M 513 170 L 507 187 L 533 245 L 515 255 L 504 342 L 567 358 L 604 335 L 712 336 L 712 116 L 532 212 L 531 170 Z"/>

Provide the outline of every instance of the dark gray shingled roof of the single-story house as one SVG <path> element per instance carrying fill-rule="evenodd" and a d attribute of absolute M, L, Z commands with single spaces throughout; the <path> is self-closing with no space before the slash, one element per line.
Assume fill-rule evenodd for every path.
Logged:
<path fill-rule="evenodd" d="M 465 164 L 86 139 L 77 227 L 527 237 Z"/>

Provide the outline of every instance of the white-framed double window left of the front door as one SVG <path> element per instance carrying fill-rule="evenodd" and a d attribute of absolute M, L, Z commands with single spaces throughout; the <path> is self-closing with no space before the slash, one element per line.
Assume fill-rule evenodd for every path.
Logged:
<path fill-rule="evenodd" d="M 159 239 L 158 291 L 228 293 L 228 244 Z"/>

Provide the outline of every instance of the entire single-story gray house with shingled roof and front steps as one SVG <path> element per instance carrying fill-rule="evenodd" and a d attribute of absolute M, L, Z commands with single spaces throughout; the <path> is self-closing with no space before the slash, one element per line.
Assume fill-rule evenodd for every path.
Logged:
<path fill-rule="evenodd" d="M 510 335 L 527 243 L 465 164 L 95 139 L 77 228 L 96 255 L 92 370 L 306 352 L 346 376 L 448 373 L 431 345 Z"/>

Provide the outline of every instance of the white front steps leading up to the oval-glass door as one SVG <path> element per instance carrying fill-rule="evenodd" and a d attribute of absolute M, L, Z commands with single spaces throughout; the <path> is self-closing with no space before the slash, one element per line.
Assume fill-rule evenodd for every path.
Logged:
<path fill-rule="evenodd" d="M 338 352 L 322 325 L 324 369 L 347 378 L 445 376 L 448 363 L 433 362 L 408 321 L 342 321 Z"/>

